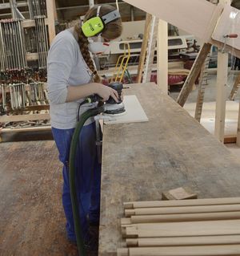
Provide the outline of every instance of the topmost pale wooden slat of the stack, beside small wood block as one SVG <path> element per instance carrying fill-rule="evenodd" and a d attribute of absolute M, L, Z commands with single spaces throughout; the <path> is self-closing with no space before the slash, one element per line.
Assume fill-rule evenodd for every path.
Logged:
<path fill-rule="evenodd" d="M 193 206 L 193 205 L 233 205 L 240 204 L 240 197 L 225 197 L 225 198 L 200 198 L 189 199 L 184 201 L 131 201 L 124 202 L 125 209 L 134 208 L 153 208 L 153 207 L 172 207 L 172 206 Z"/>

